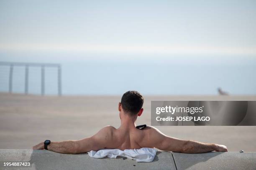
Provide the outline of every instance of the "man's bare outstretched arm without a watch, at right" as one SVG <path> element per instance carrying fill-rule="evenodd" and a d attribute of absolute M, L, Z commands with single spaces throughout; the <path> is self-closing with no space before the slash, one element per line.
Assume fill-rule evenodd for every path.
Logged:
<path fill-rule="evenodd" d="M 151 127 L 148 138 L 151 138 L 152 145 L 155 148 L 165 151 L 181 152 L 181 153 L 205 153 L 210 151 L 226 152 L 225 145 L 215 143 L 200 143 L 193 140 L 181 140 L 172 138 L 161 133 L 158 129 Z M 149 139 L 150 140 L 150 139 Z"/>

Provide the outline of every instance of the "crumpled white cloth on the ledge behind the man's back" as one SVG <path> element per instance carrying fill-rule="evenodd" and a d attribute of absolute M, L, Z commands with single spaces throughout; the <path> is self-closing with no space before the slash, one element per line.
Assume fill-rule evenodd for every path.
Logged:
<path fill-rule="evenodd" d="M 98 151 L 91 150 L 88 152 L 92 158 L 116 158 L 117 156 L 126 157 L 140 162 L 152 162 L 156 156 L 157 149 L 154 148 L 141 148 L 141 149 L 102 149 Z"/>

